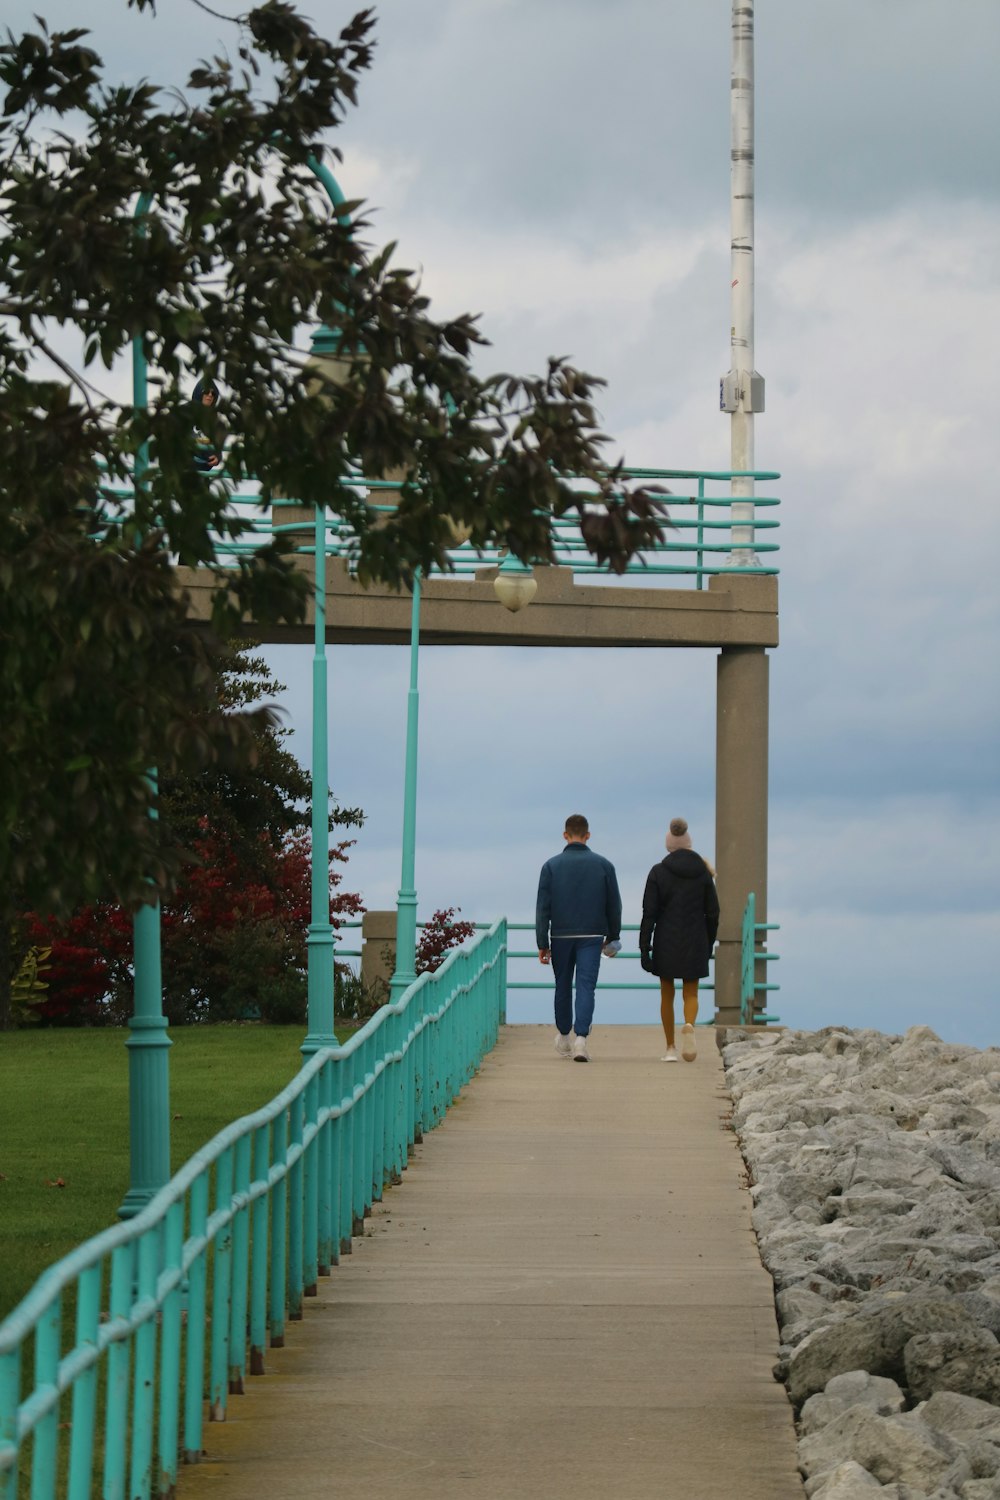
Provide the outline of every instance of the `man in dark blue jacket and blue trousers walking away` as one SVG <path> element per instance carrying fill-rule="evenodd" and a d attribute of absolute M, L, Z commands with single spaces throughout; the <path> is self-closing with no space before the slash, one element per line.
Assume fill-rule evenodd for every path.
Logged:
<path fill-rule="evenodd" d="M 540 962 L 552 963 L 556 981 L 556 1052 L 574 1062 L 589 1062 L 586 1038 L 594 1020 L 601 950 L 621 938 L 622 898 L 615 866 L 588 849 L 591 828 L 582 813 L 567 818 L 562 837 L 565 849 L 546 860 L 538 878 L 535 940 Z"/>

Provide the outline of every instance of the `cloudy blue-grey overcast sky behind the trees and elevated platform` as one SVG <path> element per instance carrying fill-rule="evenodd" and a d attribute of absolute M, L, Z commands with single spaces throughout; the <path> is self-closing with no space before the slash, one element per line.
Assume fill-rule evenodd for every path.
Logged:
<path fill-rule="evenodd" d="M 189 0 L 157 20 L 34 0 L 10 24 L 34 9 L 163 82 L 235 40 Z M 352 14 L 306 9 L 328 33 Z M 438 314 L 483 314 L 484 368 L 571 356 L 607 378 L 628 462 L 727 468 L 727 0 L 376 14 L 336 144 L 378 238 Z M 999 63 L 996 0 L 757 4 L 757 464 L 783 476 L 772 1010 L 793 1026 L 1000 1042 Z M 303 756 L 309 656 L 270 651 Z M 330 782 L 369 814 L 348 884 L 370 908 L 399 885 L 406 674 L 402 648 L 331 652 Z M 712 652 L 424 650 L 421 916 L 529 920 L 579 810 L 637 921 L 670 816 L 712 855 L 714 759 Z M 654 1016 L 598 998 L 598 1024 Z"/>

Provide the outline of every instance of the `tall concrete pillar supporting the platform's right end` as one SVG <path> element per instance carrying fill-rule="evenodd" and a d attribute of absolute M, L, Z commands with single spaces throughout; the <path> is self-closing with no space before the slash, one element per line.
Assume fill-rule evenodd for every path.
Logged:
<path fill-rule="evenodd" d="M 768 920 L 768 657 L 723 646 L 715 699 L 715 866 L 721 920 L 715 1020 L 739 1024 L 741 933 L 747 896 Z M 759 964 L 763 969 L 763 964 Z"/>

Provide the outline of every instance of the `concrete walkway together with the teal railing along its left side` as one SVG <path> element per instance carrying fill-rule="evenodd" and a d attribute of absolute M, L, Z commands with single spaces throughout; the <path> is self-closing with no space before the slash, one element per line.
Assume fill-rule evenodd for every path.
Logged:
<path fill-rule="evenodd" d="M 496 922 L 0 1326 L 0 1496 L 802 1496 L 715 1032 L 507 1028 Z M 70 1310 L 72 1316 L 70 1316 Z M 21 1488 L 24 1486 L 24 1488 Z"/>

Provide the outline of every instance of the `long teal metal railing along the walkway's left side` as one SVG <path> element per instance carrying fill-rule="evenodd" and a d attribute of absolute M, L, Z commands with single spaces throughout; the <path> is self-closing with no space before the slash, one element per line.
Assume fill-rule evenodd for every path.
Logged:
<path fill-rule="evenodd" d="M 0 1324 L 0 1500 L 174 1494 L 493 1047 L 505 958 L 501 920 L 39 1278 Z"/>

